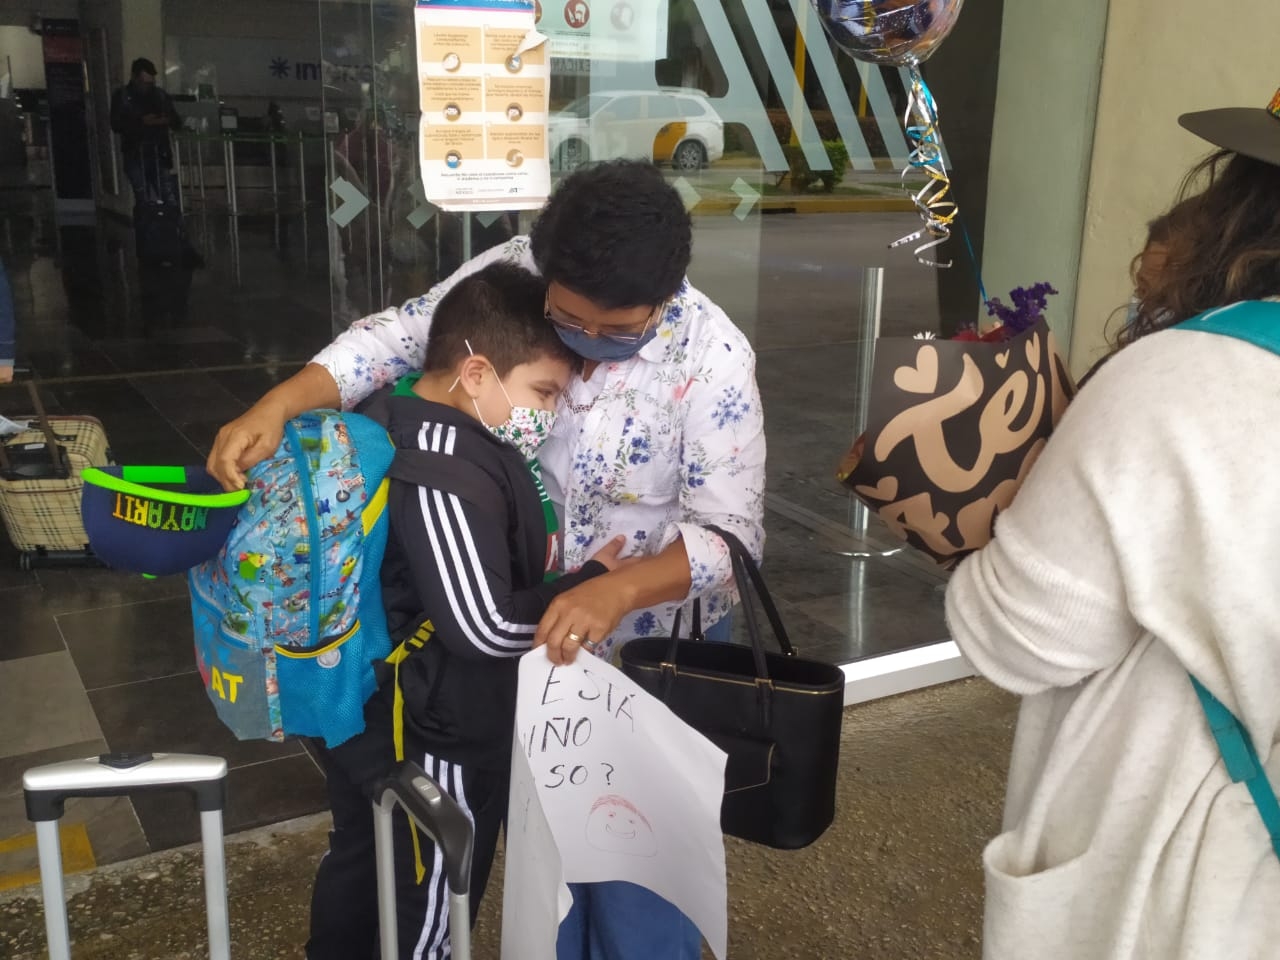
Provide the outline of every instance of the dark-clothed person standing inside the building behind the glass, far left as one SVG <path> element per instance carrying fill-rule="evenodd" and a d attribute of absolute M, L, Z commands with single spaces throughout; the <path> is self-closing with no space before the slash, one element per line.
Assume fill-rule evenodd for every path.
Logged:
<path fill-rule="evenodd" d="M 129 73 L 129 82 L 111 97 L 111 129 L 120 134 L 124 175 L 133 188 L 133 201 L 177 205 L 169 132 L 182 129 L 182 118 L 169 95 L 156 86 L 154 63 L 138 58 Z"/>

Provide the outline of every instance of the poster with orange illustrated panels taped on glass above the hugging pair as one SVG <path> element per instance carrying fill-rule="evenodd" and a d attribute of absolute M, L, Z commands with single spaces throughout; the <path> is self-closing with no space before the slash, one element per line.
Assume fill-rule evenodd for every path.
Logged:
<path fill-rule="evenodd" d="M 443 210 L 534 210 L 550 193 L 534 17 L 534 0 L 417 0 L 422 186 Z"/>

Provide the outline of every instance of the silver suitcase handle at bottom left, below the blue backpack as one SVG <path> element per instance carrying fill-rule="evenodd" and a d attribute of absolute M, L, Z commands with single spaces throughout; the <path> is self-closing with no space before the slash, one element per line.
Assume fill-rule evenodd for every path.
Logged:
<path fill-rule="evenodd" d="M 143 791 L 184 790 L 200 808 L 205 850 L 205 909 L 210 960 L 230 959 L 227 913 L 227 864 L 223 856 L 223 806 L 227 804 L 227 760 L 197 754 L 104 754 L 33 767 L 22 774 L 27 819 L 36 824 L 45 931 L 51 960 L 69 960 L 70 932 L 63 890 L 58 820 L 74 796 L 125 796 Z"/>

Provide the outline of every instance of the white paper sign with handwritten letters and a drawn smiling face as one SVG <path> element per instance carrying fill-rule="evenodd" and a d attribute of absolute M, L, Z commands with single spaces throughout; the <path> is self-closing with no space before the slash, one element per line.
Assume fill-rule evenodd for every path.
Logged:
<path fill-rule="evenodd" d="M 503 960 L 552 960 L 564 883 L 630 881 L 678 906 L 723 960 L 724 753 L 621 671 L 545 648 L 520 662 Z"/>

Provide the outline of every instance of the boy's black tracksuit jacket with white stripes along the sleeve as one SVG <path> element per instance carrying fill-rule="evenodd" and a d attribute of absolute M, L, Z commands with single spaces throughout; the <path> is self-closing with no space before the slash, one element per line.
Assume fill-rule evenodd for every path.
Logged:
<path fill-rule="evenodd" d="M 465 497 L 392 480 L 383 600 L 393 643 L 431 623 L 431 639 L 401 664 L 406 726 L 429 753 L 506 772 L 511 763 L 518 658 L 552 598 L 604 572 L 589 562 L 545 581 L 561 552 L 549 541 L 538 486 L 521 454 L 483 424 L 417 396 L 388 399 L 397 449 L 436 451 L 480 467 L 502 492 L 503 516 Z M 383 664 L 380 696 L 392 696 Z"/>

